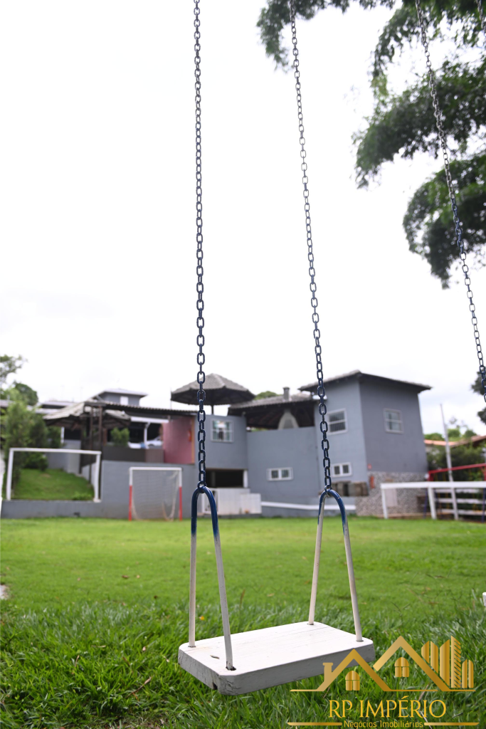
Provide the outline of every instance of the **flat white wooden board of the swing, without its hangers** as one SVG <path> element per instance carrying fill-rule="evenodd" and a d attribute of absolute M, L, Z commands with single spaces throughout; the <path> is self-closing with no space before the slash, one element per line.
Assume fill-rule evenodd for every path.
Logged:
<path fill-rule="evenodd" d="M 226 695 L 249 693 L 324 674 L 323 663 L 336 668 L 350 650 L 375 659 L 373 642 L 324 623 L 290 623 L 231 636 L 235 668 L 226 668 L 224 638 L 206 638 L 179 647 L 179 664 L 205 685 Z M 350 662 L 355 666 L 356 661 Z"/>

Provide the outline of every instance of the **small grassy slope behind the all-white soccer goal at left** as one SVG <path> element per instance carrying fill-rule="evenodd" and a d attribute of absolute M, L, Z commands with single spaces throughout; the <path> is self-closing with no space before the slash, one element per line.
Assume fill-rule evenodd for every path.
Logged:
<path fill-rule="evenodd" d="M 89 481 L 60 468 L 48 468 L 45 471 L 23 468 L 13 491 L 14 499 L 90 501 L 93 495 L 93 486 Z"/>

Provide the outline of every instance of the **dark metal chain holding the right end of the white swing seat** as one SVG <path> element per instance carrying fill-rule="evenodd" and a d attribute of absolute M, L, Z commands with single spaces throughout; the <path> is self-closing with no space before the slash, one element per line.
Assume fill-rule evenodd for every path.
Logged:
<path fill-rule="evenodd" d="M 305 211 L 305 230 L 307 232 L 307 258 L 309 260 L 309 276 L 310 276 L 310 305 L 313 308 L 312 321 L 314 324 L 314 342 L 315 342 L 315 365 L 317 369 L 317 381 L 318 389 L 317 394 L 319 396 L 319 414 L 321 416 L 321 433 L 322 441 L 321 448 L 323 453 L 323 465 L 324 465 L 324 491 L 328 491 L 332 486 L 331 480 L 331 461 L 329 460 L 329 440 L 327 438 L 328 425 L 326 422 L 326 390 L 324 389 L 324 380 L 322 375 L 322 348 L 321 348 L 321 332 L 319 330 L 319 315 L 317 311 L 318 300 L 316 297 L 317 286 L 315 284 L 315 268 L 314 268 L 314 253 L 313 253 L 313 241 L 312 241 L 312 228 L 310 226 L 310 202 L 309 202 L 309 188 L 307 187 L 309 179 L 307 177 L 307 162 L 305 157 L 307 152 L 305 151 L 305 137 L 304 137 L 304 117 L 302 116 L 302 92 L 300 88 L 300 71 L 299 71 L 299 51 L 297 50 L 297 31 L 295 28 L 295 0 L 290 0 L 290 19 L 292 28 L 292 44 L 294 45 L 294 77 L 295 77 L 295 90 L 297 91 L 297 115 L 299 117 L 299 134 L 300 134 L 300 157 L 302 164 L 302 185 L 304 187 L 304 211 Z"/>

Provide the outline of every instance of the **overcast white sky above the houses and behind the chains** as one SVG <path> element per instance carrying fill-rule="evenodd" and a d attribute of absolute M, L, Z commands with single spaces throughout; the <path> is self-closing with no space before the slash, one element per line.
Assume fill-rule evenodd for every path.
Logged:
<path fill-rule="evenodd" d="M 263 2 L 201 2 L 206 371 L 254 392 L 315 380 L 294 78 L 259 44 Z M 197 372 L 192 2 L 26 0 L 1 15 L 1 350 L 28 359 L 17 377 L 42 398 L 117 386 L 168 405 Z M 401 227 L 438 163 L 354 183 L 388 15 L 329 10 L 297 28 L 324 373 L 428 383 L 426 432 L 440 402 L 484 432 L 463 284 L 442 290 Z M 472 284 L 486 343 L 486 270 Z"/>

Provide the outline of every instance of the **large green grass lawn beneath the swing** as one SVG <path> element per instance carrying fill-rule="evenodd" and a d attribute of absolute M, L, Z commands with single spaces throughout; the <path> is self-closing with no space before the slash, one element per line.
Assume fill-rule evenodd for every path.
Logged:
<path fill-rule="evenodd" d="M 314 519 L 222 521 L 232 632 L 305 620 L 315 526 Z M 360 518 L 350 521 L 350 532 L 361 622 L 377 655 L 399 635 L 419 651 L 429 639 L 440 645 L 455 635 L 463 656 L 474 660 L 478 688 L 440 698 L 450 721 L 479 716 L 485 727 L 485 527 Z M 340 679 L 324 695 L 290 693 L 294 686 L 286 685 L 225 697 L 185 674 L 177 649 L 187 641 L 187 521 L 4 521 L 1 564 L 11 596 L 2 605 L 6 728 L 284 727 L 329 720 L 329 699 L 383 698 L 366 677 L 356 694 Z M 197 567 L 197 637 L 220 635 L 205 520 L 198 526 Z M 353 631 L 337 518 L 324 525 L 316 619 Z M 393 661 L 383 677 L 396 687 L 404 680 L 393 677 Z M 411 663 L 409 685 L 421 687 L 424 678 Z"/>

